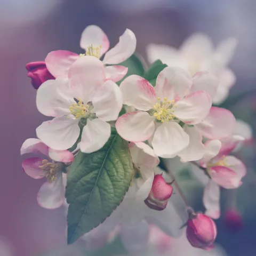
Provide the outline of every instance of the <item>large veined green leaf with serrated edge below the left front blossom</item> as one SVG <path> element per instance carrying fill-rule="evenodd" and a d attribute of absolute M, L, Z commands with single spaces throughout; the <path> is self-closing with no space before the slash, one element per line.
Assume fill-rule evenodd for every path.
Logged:
<path fill-rule="evenodd" d="M 129 189 L 133 174 L 128 142 L 113 128 L 105 146 L 78 153 L 67 175 L 68 244 L 97 227 Z"/>

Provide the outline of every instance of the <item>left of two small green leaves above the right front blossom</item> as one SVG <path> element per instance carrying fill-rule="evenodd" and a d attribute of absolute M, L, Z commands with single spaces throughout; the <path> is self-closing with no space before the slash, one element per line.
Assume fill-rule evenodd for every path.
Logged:
<path fill-rule="evenodd" d="M 140 58 L 133 54 L 131 55 L 131 57 L 127 60 L 125 60 L 124 62 L 119 63 L 118 65 L 124 66 L 128 68 L 128 72 L 125 75 L 125 77 L 121 80 L 118 81 L 117 84 L 120 85 L 122 83 L 122 81 L 130 75 L 138 75 L 138 76 L 143 76 L 144 74 L 144 67 L 142 64 L 142 61 L 140 60 Z"/>

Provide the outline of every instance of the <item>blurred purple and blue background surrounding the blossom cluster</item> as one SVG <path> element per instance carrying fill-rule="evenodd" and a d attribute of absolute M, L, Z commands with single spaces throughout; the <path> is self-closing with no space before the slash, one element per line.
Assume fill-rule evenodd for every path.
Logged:
<path fill-rule="evenodd" d="M 111 45 L 130 28 L 137 37 L 137 53 L 145 59 L 145 46 L 149 43 L 179 47 L 198 31 L 209 35 L 215 45 L 232 36 L 239 43 L 230 64 L 237 76 L 230 94 L 241 94 L 241 98 L 228 108 L 254 129 L 255 12 L 255 0 L 0 0 L 0 239 L 5 247 L 10 247 L 10 255 L 37 256 L 66 245 L 63 209 L 39 207 L 36 194 L 44 181 L 31 179 L 21 168 L 23 141 L 35 138 L 35 128 L 46 120 L 36 109 L 36 90 L 27 77 L 27 62 L 44 60 L 52 50 L 81 53 L 81 33 L 91 24 L 105 31 Z M 217 242 L 228 255 L 253 256 L 256 255 L 254 143 L 245 146 L 241 156 L 250 170 L 237 191 L 237 207 L 244 226 L 237 232 L 230 231 L 223 217 L 220 218 Z M 9 256 L 7 251 L 0 256 Z"/>

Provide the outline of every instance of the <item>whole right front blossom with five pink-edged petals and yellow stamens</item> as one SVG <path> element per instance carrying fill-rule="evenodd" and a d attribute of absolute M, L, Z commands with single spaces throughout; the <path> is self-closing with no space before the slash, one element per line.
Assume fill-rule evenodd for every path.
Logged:
<path fill-rule="evenodd" d="M 139 111 L 126 113 L 116 122 L 117 132 L 127 141 L 152 137 L 156 155 L 174 157 L 189 144 L 180 122 L 194 125 L 209 113 L 211 97 L 205 91 L 189 94 L 193 78 L 180 68 L 166 67 L 153 87 L 146 79 L 132 75 L 120 85 L 124 104 Z"/>

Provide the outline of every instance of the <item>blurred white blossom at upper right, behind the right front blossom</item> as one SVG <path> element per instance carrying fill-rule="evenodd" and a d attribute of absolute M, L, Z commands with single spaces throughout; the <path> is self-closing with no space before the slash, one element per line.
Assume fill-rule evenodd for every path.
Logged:
<path fill-rule="evenodd" d="M 232 59 L 237 41 L 227 38 L 214 49 L 211 39 L 201 33 L 191 35 L 180 47 L 150 44 L 147 47 L 149 62 L 162 60 L 170 67 L 180 67 L 193 76 L 198 71 L 209 71 L 218 77 L 220 84 L 214 95 L 213 103 L 223 102 L 230 88 L 236 82 L 236 76 L 227 66 Z"/>

